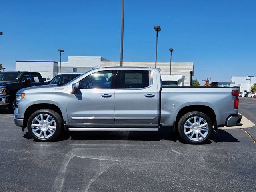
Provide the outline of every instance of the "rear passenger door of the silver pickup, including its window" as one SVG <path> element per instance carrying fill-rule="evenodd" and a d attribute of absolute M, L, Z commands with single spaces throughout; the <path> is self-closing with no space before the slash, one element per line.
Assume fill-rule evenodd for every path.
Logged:
<path fill-rule="evenodd" d="M 158 125 L 158 88 L 151 70 L 118 70 L 115 123 L 120 126 Z M 153 79 L 155 77 L 155 79 Z"/>

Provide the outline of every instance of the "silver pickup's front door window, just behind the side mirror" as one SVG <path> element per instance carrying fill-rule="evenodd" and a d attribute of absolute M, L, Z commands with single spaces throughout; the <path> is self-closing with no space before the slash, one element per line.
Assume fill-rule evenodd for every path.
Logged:
<path fill-rule="evenodd" d="M 110 89 L 112 71 L 99 71 L 90 74 L 79 82 L 80 89 Z"/>

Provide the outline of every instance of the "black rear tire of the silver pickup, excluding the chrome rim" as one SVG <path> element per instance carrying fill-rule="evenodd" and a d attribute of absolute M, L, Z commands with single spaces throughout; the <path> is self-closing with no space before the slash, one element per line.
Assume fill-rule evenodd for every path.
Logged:
<path fill-rule="evenodd" d="M 184 132 L 184 126 L 185 126 L 185 123 L 187 122 L 187 120 L 189 120 L 190 118 L 194 117 L 194 116 L 197 116 L 197 117 L 201 117 L 203 118 L 206 123 L 208 124 L 208 134 L 201 140 L 199 141 L 193 141 L 193 140 L 190 140 L 185 132 Z M 210 120 L 210 118 L 202 113 L 202 112 L 198 112 L 198 111 L 193 111 L 193 112 L 189 112 L 187 114 L 184 114 L 179 122 L 178 122 L 178 132 L 180 134 L 180 137 L 182 138 L 182 140 L 188 144 L 202 144 L 204 143 L 206 140 L 208 140 L 208 138 L 210 137 L 210 135 L 212 134 L 212 121 Z M 205 133 L 205 132 L 203 132 Z M 189 135 L 188 135 L 189 136 Z M 194 136 L 193 136 L 194 137 Z M 195 139 L 195 138 L 194 138 Z"/>

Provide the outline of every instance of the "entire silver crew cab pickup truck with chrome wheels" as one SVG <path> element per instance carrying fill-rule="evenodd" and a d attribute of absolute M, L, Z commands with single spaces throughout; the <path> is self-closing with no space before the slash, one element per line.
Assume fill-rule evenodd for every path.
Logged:
<path fill-rule="evenodd" d="M 239 126 L 236 88 L 162 87 L 156 68 L 90 70 L 65 85 L 24 88 L 14 121 L 36 141 L 62 131 L 179 132 L 187 143 L 207 140 L 218 127 Z"/>

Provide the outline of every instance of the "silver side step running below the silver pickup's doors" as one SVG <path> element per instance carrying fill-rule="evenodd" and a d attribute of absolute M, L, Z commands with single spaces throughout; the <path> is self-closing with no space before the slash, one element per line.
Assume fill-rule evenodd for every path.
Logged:
<path fill-rule="evenodd" d="M 143 127 L 80 127 L 68 128 L 70 131 L 158 131 L 158 128 L 143 128 Z"/>

